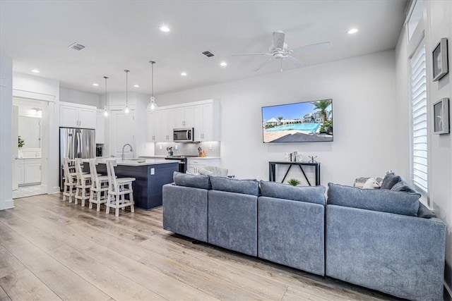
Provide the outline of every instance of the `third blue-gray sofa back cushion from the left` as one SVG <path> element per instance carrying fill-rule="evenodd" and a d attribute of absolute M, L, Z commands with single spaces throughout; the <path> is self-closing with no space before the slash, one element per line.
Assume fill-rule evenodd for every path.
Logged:
<path fill-rule="evenodd" d="M 263 197 L 292 199 L 325 206 L 325 190 L 326 188 L 323 186 L 292 186 L 261 180 L 261 196 Z"/>

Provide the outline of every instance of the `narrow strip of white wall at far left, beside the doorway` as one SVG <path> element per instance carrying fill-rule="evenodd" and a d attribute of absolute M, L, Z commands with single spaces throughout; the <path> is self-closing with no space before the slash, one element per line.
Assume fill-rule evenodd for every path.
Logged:
<path fill-rule="evenodd" d="M 0 56 L 0 210 L 14 207 L 12 128 L 13 61 Z"/>

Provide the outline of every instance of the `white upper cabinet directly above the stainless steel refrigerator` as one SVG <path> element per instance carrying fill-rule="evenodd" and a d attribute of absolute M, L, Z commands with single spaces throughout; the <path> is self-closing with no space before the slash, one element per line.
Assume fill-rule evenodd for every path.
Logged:
<path fill-rule="evenodd" d="M 60 102 L 59 125 L 67 128 L 96 128 L 96 107 Z"/>

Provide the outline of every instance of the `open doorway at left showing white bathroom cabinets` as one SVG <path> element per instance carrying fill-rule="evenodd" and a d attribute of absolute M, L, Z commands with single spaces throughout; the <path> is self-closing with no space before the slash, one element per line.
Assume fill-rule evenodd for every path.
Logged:
<path fill-rule="evenodd" d="M 47 193 L 43 173 L 43 154 L 48 139 L 43 139 L 48 121 L 48 103 L 38 99 L 13 97 L 13 199 Z"/>

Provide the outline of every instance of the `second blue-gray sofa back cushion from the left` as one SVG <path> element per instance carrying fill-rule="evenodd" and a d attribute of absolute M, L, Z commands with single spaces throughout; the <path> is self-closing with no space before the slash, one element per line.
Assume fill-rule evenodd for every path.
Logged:
<path fill-rule="evenodd" d="M 258 180 L 237 180 L 221 176 L 210 176 L 210 183 L 213 190 L 237 192 L 244 195 L 259 195 Z"/>

